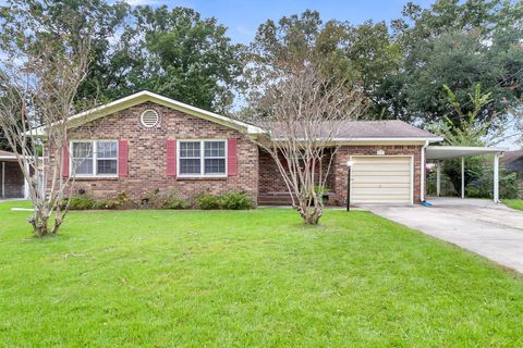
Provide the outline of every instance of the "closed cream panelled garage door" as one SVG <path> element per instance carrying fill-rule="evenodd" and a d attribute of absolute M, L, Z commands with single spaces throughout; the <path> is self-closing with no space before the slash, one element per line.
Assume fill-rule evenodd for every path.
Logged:
<path fill-rule="evenodd" d="M 351 202 L 412 203 L 412 158 L 353 157 Z"/>

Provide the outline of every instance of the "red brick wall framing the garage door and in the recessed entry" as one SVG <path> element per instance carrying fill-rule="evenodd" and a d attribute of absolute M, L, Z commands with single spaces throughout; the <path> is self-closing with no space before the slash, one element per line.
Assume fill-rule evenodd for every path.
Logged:
<path fill-rule="evenodd" d="M 350 156 L 375 156 L 378 150 L 385 154 L 414 156 L 414 203 L 419 202 L 421 146 L 387 145 L 387 146 L 343 146 L 335 154 L 327 186 L 335 192 L 335 204 L 341 206 L 346 198 L 346 161 Z M 259 153 L 259 191 L 287 191 L 285 184 L 278 167 L 268 153 Z"/>

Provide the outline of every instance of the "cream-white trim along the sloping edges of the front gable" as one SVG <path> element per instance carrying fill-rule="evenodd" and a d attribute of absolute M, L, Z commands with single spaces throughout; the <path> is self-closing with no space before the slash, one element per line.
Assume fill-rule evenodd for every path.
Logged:
<path fill-rule="evenodd" d="M 151 91 L 148 91 L 148 90 L 138 91 L 134 95 L 118 99 L 118 100 L 112 101 L 110 103 L 107 103 L 105 105 L 93 108 L 90 110 L 87 110 L 87 111 L 77 113 L 75 115 L 72 115 L 71 117 L 68 119 L 68 127 L 80 126 L 80 125 L 82 125 L 86 122 L 94 121 L 96 119 L 106 116 L 106 115 L 111 114 L 111 113 L 119 112 L 121 110 L 141 104 L 141 103 L 146 102 L 146 101 L 156 102 L 156 103 L 159 103 L 161 105 L 165 105 L 165 107 L 168 107 L 168 108 L 171 108 L 171 109 L 174 109 L 174 110 L 186 112 L 186 113 L 188 113 L 191 115 L 194 115 L 194 116 L 197 116 L 197 117 L 206 119 L 208 121 L 216 122 L 216 123 L 222 124 L 224 126 L 235 128 L 238 130 L 243 130 L 247 134 L 266 133 L 264 129 L 262 129 L 257 126 L 254 126 L 252 124 L 244 123 L 244 122 L 241 122 L 241 121 L 236 121 L 236 120 L 233 120 L 233 119 L 230 119 L 230 117 L 226 117 L 226 116 L 219 115 L 217 113 L 214 113 L 214 112 L 210 112 L 210 111 L 207 111 L 207 110 L 203 110 L 203 109 L 199 109 L 199 108 L 196 108 L 196 107 L 177 101 L 174 99 L 171 99 L 171 98 L 168 98 L 168 97 L 165 97 L 165 96 L 160 96 L 158 94 L 155 94 L 155 92 L 151 92 Z M 44 127 L 38 127 L 38 128 L 34 129 L 33 135 L 45 136 L 46 135 L 45 128 Z"/>

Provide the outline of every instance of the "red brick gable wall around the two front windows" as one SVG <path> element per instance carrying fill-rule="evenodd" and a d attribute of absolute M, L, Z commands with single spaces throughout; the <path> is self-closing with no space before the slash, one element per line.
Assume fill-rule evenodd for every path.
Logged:
<path fill-rule="evenodd" d="M 151 128 L 142 125 L 139 116 L 156 110 L 160 120 Z M 181 198 L 192 199 L 204 190 L 223 194 L 245 190 L 256 201 L 258 192 L 257 146 L 235 129 L 192 116 L 156 103 L 146 102 L 86 123 L 70 132 L 70 139 L 126 139 L 129 175 L 118 178 L 76 178 L 74 191 L 84 189 L 97 198 L 121 191 L 134 199 L 159 188 L 173 189 Z M 174 178 L 167 176 L 166 139 L 238 139 L 238 175 L 227 178 Z"/>

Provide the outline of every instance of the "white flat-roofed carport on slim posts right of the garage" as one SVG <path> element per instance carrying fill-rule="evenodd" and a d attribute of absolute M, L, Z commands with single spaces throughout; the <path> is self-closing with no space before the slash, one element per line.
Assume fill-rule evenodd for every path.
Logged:
<path fill-rule="evenodd" d="M 465 158 L 479 154 L 494 154 L 494 202 L 499 203 L 499 158 L 507 149 L 496 147 L 428 146 L 427 160 L 436 163 L 436 196 L 441 191 L 441 161 L 461 158 L 461 198 L 465 198 Z"/>

